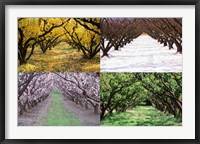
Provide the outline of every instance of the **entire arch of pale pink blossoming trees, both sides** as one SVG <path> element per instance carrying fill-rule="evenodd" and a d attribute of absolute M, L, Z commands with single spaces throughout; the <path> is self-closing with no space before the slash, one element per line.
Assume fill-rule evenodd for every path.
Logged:
<path fill-rule="evenodd" d="M 19 73 L 18 112 L 35 107 L 57 91 L 83 109 L 100 113 L 99 73 Z"/>

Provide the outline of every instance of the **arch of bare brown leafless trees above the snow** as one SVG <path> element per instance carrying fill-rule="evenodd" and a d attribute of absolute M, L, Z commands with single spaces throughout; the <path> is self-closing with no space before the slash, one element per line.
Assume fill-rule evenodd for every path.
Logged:
<path fill-rule="evenodd" d="M 182 53 L 181 18 L 102 18 L 102 57 L 108 56 L 112 47 L 119 50 L 141 34 L 149 35 L 169 49 L 176 47 Z"/>

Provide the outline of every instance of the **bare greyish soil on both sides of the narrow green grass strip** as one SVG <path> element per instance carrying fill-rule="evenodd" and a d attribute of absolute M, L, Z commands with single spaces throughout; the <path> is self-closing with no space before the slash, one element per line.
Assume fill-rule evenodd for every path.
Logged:
<path fill-rule="evenodd" d="M 18 115 L 18 126 L 45 126 L 44 119 L 52 103 L 52 97 L 49 96 L 37 106 L 27 110 L 23 115 Z M 94 114 L 92 109 L 83 109 L 75 103 L 63 98 L 64 107 L 67 111 L 74 113 L 81 126 L 98 126 L 100 125 L 100 115 Z"/>

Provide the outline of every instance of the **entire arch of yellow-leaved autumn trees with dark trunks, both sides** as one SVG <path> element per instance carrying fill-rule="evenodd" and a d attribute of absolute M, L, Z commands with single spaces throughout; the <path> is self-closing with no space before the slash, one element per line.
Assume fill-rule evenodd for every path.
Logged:
<path fill-rule="evenodd" d="M 40 47 L 42 53 L 61 42 L 92 59 L 100 51 L 99 18 L 18 18 L 18 61 L 25 64 Z"/>

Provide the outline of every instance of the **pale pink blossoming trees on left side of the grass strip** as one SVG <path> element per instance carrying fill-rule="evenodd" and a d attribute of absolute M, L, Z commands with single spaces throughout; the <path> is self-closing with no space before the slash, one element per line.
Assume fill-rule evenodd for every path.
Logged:
<path fill-rule="evenodd" d="M 18 105 L 19 114 L 23 114 L 46 99 L 51 85 L 45 81 L 43 73 L 19 73 L 18 77 Z M 44 90 L 45 89 L 45 90 Z"/>

